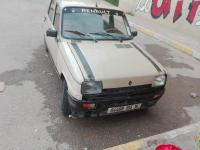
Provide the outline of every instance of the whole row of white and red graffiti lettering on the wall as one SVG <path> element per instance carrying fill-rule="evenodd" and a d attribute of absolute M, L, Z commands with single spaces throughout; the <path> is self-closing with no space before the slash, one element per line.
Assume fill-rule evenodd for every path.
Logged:
<path fill-rule="evenodd" d="M 171 13 L 171 3 L 172 0 L 139 0 L 136 11 L 143 11 L 145 13 L 151 12 L 153 18 L 157 19 L 163 16 L 165 19 Z M 182 17 L 183 3 L 184 0 L 177 0 L 173 23 Z M 200 0 L 191 0 L 188 6 L 189 12 L 186 16 L 186 20 L 192 24 L 194 23 L 195 17 L 197 17 L 195 24 L 200 26 L 200 12 L 198 13 L 198 8 L 200 8 Z"/>

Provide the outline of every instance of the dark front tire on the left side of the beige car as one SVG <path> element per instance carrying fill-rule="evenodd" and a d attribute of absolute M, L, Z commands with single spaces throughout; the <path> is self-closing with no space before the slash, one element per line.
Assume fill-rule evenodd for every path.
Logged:
<path fill-rule="evenodd" d="M 68 87 L 65 80 L 63 81 L 62 113 L 66 117 L 71 114 L 71 109 L 70 109 L 69 99 L 68 99 Z"/>

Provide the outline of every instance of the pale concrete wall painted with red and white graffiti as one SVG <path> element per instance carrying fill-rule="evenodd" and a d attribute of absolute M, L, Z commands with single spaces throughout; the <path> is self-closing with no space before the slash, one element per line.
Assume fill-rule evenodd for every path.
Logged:
<path fill-rule="evenodd" d="M 120 0 L 119 7 L 200 38 L 200 0 Z"/>

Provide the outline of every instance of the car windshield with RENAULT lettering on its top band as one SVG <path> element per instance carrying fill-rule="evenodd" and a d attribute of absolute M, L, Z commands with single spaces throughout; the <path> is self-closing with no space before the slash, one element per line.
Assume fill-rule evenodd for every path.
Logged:
<path fill-rule="evenodd" d="M 131 39 L 123 12 L 99 8 L 64 8 L 62 36 L 77 40 Z"/>

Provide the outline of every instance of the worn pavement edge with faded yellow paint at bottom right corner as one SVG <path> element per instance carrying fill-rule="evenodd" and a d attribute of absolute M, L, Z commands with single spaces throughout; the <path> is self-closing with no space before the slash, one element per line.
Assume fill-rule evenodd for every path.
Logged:
<path fill-rule="evenodd" d="M 198 138 L 198 141 L 196 139 Z M 185 149 L 200 149 L 200 122 L 166 133 L 107 148 L 105 150 L 155 150 L 160 144 L 174 144 Z"/>

